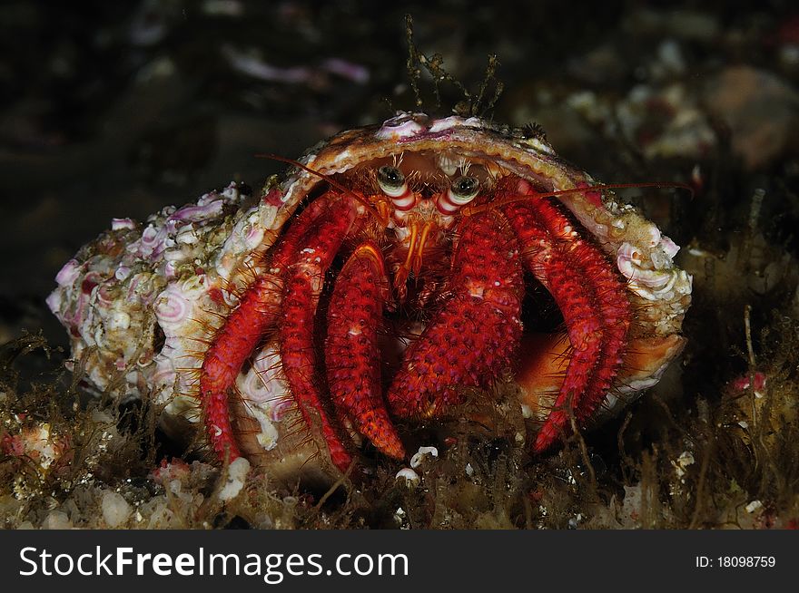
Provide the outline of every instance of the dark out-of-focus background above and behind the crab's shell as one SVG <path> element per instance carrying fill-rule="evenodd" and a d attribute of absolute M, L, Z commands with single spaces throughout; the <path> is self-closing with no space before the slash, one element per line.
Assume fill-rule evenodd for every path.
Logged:
<path fill-rule="evenodd" d="M 793 179 L 790 142 L 754 168 L 719 165 L 726 132 L 711 121 L 716 141 L 698 157 L 642 158 L 641 139 L 620 138 L 566 100 L 593 92 L 612 104 L 636 85 L 676 81 L 701 101 L 703 85 L 736 64 L 791 85 L 799 16 L 790 2 L 756 4 L 5 2 L 0 342 L 41 326 L 64 342 L 43 299 L 58 269 L 113 217 L 143 219 L 230 180 L 258 187 L 282 166 L 256 153 L 296 158 L 340 129 L 412 108 L 406 14 L 415 18 L 419 50 L 441 53 L 472 92 L 488 54 L 498 54 L 505 92 L 489 116 L 542 123 L 557 151 L 606 181 L 686 180 L 697 163 L 705 173 L 722 168 L 725 187 L 735 178 L 725 195 L 735 207 L 774 176 Z M 671 80 L 653 74 L 665 41 L 685 63 Z M 278 70 L 245 73 L 234 58 Z M 444 85 L 436 108 L 431 91 L 427 76 L 428 111 L 449 112 L 462 98 Z M 664 125 L 666 116 L 652 117 L 642 142 Z M 670 214 L 652 216 L 668 225 Z M 682 218 L 693 222 L 667 230 L 690 240 L 701 224 L 691 212 Z"/>

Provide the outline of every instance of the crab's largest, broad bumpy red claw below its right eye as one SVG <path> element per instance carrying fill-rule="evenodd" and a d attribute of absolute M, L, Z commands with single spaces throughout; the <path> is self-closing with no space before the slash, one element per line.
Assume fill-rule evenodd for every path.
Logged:
<path fill-rule="evenodd" d="M 388 400 L 401 416 L 431 417 L 459 387 L 488 386 L 521 338 L 524 278 L 518 241 L 496 214 L 465 219 L 452 258 L 452 297 L 406 350 Z"/>

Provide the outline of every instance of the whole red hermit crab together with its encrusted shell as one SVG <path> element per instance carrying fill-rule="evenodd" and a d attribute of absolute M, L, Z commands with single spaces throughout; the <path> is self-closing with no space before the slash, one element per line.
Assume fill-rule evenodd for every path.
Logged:
<path fill-rule="evenodd" d="M 634 399 L 684 343 L 677 249 L 536 128 L 399 112 L 260 194 L 114 219 L 48 304 L 94 389 L 154 398 L 222 460 L 348 471 L 501 386 L 533 452 Z M 525 313 L 545 291 L 555 328 Z"/>

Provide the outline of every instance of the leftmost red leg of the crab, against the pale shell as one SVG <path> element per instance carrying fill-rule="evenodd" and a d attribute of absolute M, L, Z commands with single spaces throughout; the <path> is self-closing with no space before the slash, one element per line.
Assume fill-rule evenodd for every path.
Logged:
<path fill-rule="evenodd" d="M 256 277 L 247 288 L 239 306 L 214 335 L 203 357 L 202 412 L 212 449 L 221 459 L 226 451 L 231 461 L 241 455 L 230 419 L 229 394 L 235 387 L 236 377 L 263 335 L 275 326 L 286 266 L 290 258 L 296 257 L 294 253 L 309 230 L 327 216 L 328 201 L 321 196 L 294 221 L 275 246 L 268 271 Z"/>

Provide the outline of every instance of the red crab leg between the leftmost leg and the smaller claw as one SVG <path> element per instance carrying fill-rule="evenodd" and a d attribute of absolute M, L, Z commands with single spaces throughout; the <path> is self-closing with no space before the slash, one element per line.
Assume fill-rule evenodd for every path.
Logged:
<path fill-rule="evenodd" d="M 288 256 L 279 329 L 282 370 L 291 394 L 311 433 L 321 429 L 330 459 L 340 471 L 347 470 L 352 458 L 321 403 L 313 330 L 325 273 L 350 232 L 355 216 L 356 210 L 349 199 L 331 201 L 324 216 Z"/>

